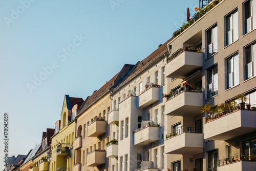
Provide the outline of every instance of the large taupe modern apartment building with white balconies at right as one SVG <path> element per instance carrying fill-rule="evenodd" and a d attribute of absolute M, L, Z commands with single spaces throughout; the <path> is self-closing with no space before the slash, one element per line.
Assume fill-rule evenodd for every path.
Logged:
<path fill-rule="evenodd" d="M 165 153 L 171 170 L 256 168 L 255 7 L 254 1 L 212 1 L 168 43 Z M 250 106 L 238 107 L 237 94 L 246 94 Z M 229 110 L 201 113 L 208 102 L 232 100 Z"/>

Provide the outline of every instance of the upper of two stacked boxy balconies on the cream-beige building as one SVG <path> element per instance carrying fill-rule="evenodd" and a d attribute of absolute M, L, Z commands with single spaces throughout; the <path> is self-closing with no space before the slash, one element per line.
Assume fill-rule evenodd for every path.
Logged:
<path fill-rule="evenodd" d="M 96 119 L 88 125 L 88 137 L 99 137 L 106 132 L 106 121 Z"/>

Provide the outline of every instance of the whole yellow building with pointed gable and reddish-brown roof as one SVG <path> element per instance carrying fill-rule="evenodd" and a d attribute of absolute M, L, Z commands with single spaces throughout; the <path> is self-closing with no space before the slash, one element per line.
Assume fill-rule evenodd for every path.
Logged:
<path fill-rule="evenodd" d="M 83 103 L 82 98 L 65 95 L 61 109 L 61 120 L 55 123 L 55 132 L 51 137 L 51 151 L 48 153 L 50 171 L 72 170 L 74 165 L 74 139 L 76 131 L 73 111 Z M 73 117 L 72 117 L 73 116 Z"/>

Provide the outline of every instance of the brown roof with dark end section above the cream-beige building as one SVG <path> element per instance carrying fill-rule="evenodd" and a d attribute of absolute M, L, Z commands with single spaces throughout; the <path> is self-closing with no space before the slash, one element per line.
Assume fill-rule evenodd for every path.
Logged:
<path fill-rule="evenodd" d="M 96 102 L 103 94 L 121 84 L 127 77 L 129 77 L 136 66 L 137 65 L 125 64 L 120 72 L 118 72 L 112 79 L 106 82 L 102 87 L 100 87 L 100 89 L 94 91 L 92 96 L 87 97 L 78 113 L 81 113 L 83 110 L 91 106 L 91 104 Z"/>

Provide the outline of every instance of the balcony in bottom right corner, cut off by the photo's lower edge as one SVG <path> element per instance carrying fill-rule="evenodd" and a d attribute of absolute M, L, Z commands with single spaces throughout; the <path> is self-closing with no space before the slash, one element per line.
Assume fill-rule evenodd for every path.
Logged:
<path fill-rule="evenodd" d="M 256 168 L 255 155 L 237 155 L 231 158 L 219 160 L 218 171 L 253 170 L 253 168 Z"/>

